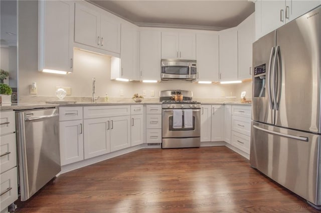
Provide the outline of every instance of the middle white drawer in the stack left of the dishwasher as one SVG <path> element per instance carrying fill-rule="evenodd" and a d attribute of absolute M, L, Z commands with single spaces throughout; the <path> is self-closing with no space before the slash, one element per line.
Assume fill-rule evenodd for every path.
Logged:
<path fill-rule="evenodd" d="M 17 165 L 16 134 L 0 137 L 0 173 Z"/>

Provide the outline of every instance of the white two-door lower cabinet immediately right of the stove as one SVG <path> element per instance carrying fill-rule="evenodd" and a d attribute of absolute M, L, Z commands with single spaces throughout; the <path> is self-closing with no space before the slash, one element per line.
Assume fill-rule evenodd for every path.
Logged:
<path fill-rule="evenodd" d="M 202 105 L 201 142 L 224 140 L 224 105 Z"/>

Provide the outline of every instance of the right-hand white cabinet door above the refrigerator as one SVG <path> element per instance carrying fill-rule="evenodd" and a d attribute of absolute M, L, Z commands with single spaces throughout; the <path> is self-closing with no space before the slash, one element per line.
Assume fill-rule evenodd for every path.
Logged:
<path fill-rule="evenodd" d="M 286 0 L 285 21 L 289 22 L 321 4 L 321 0 Z"/>

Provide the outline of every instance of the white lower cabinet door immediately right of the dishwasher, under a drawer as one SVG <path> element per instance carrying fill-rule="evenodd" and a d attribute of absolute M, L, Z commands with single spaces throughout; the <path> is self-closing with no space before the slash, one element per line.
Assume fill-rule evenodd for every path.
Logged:
<path fill-rule="evenodd" d="M 61 165 L 84 159 L 82 125 L 82 120 L 62 121 L 59 123 Z"/>

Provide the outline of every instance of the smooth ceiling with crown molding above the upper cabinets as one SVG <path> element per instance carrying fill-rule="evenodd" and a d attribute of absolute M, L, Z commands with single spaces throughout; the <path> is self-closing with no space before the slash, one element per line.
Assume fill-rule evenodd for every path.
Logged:
<path fill-rule="evenodd" d="M 250 0 L 88 0 L 138 26 L 221 30 L 254 12 Z"/>

